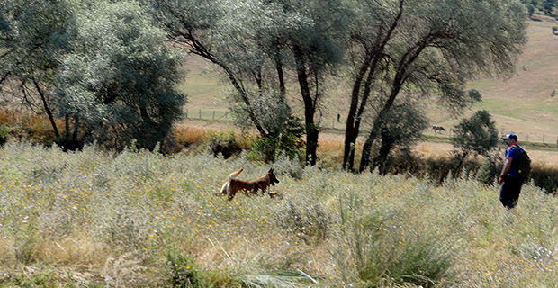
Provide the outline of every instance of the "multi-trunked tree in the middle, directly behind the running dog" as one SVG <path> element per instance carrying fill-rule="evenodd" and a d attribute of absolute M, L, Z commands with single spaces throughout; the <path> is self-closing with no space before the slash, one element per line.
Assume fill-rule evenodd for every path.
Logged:
<path fill-rule="evenodd" d="M 154 14 L 175 43 L 220 67 L 234 88 L 232 97 L 262 138 L 282 130 L 257 110 L 258 98 L 285 103 L 294 78 L 304 107 L 306 156 L 316 161 L 324 75 L 342 55 L 347 9 L 338 0 L 154 0 Z M 291 76 L 291 77 L 290 77 Z M 291 85 L 292 86 L 292 85 Z M 293 121 L 287 117 L 275 123 Z M 285 126 L 285 125 L 280 125 Z"/>

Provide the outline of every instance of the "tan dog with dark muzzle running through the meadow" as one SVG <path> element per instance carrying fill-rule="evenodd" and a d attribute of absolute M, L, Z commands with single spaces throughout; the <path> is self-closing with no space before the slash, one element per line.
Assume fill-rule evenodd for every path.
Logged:
<path fill-rule="evenodd" d="M 268 191 L 269 185 L 275 186 L 276 183 L 279 183 L 279 180 L 277 180 L 277 177 L 274 174 L 274 168 L 269 169 L 266 175 L 263 175 L 259 179 L 252 182 L 235 179 L 240 172 L 242 172 L 242 170 L 244 170 L 244 168 L 240 168 L 237 172 L 229 174 L 229 181 L 223 184 L 222 188 L 220 188 L 220 193 L 217 193 L 216 195 L 229 195 L 229 201 L 231 201 L 238 191 L 249 192 L 257 195 L 257 192 L 261 190 L 263 193 L 268 193 L 270 197 L 275 197 L 276 192 Z"/>

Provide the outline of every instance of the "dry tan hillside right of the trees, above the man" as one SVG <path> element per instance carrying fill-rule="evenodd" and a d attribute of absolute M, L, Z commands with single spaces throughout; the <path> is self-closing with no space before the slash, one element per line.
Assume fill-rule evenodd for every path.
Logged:
<path fill-rule="evenodd" d="M 517 71 L 506 79 L 497 77 L 473 81 L 470 88 L 481 92 L 482 103 L 471 112 L 491 112 L 502 132 L 513 131 L 520 139 L 555 143 L 558 138 L 558 35 L 552 32 L 556 21 L 529 21 L 528 42 L 519 56 Z M 555 94 L 554 96 L 553 93 Z M 452 127 L 457 120 L 450 114 L 429 112 L 437 124 Z"/>

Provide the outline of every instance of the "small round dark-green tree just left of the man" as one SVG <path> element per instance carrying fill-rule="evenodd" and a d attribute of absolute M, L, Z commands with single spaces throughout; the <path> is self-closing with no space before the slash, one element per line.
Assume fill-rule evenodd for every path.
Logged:
<path fill-rule="evenodd" d="M 455 125 L 452 143 L 460 160 L 458 171 L 461 171 L 466 157 L 474 154 L 486 156 L 498 143 L 498 130 L 491 114 L 482 110 L 460 121 Z"/>

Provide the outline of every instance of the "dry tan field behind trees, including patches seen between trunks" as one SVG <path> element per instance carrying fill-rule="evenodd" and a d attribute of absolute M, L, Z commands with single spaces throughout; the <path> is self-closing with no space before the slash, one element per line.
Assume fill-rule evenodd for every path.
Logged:
<path fill-rule="evenodd" d="M 528 20 L 528 43 L 524 53 L 518 58 L 517 72 L 507 79 L 499 77 L 481 78 L 469 84 L 470 88 L 481 92 L 483 102 L 474 105 L 465 116 L 477 110 L 491 112 L 501 133 L 515 132 L 519 140 L 556 144 L 558 140 L 558 35 L 552 32 L 556 25 L 553 18 L 536 16 L 537 20 Z M 219 120 L 225 120 L 229 111 L 227 103 L 222 103 L 226 79 L 217 68 L 206 63 L 202 58 L 190 57 L 185 65 L 188 76 L 181 89 L 188 94 L 186 105 L 190 119 L 212 120 L 213 112 Z M 324 133 L 341 134 L 347 117 L 349 87 L 337 79 L 329 84 L 329 97 L 320 107 L 323 114 Z M 297 109 L 298 94 L 292 92 L 293 110 Z M 302 103 L 301 103 L 302 104 Z M 337 114 L 341 122 L 337 122 Z M 452 128 L 458 121 L 455 115 L 436 107 L 427 110 L 431 124 Z M 449 130 L 449 129 L 448 129 Z M 432 130 L 426 135 L 434 135 Z M 448 137 L 443 134 L 442 137 Z"/>

